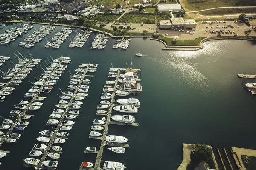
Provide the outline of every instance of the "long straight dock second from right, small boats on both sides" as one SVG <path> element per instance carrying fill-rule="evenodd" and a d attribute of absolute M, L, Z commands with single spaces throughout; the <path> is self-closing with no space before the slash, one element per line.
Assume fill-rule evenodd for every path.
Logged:
<path fill-rule="evenodd" d="M 52 147 L 52 144 L 54 143 L 54 140 L 57 138 L 56 135 L 57 135 L 58 131 L 60 130 L 61 126 L 63 125 L 63 121 L 65 120 L 65 118 L 67 116 L 67 113 L 68 113 L 68 111 L 70 109 L 70 106 L 72 105 L 72 102 L 73 102 L 73 100 L 74 100 L 74 98 L 76 96 L 76 93 L 78 92 L 79 86 L 81 85 L 81 83 L 83 82 L 84 77 L 86 76 L 88 68 L 89 68 L 89 64 L 87 65 L 83 75 L 81 76 L 81 79 L 80 79 L 79 83 L 77 84 L 77 87 L 76 87 L 75 91 L 73 92 L 73 96 L 71 96 L 70 102 L 67 104 L 67 108 L 64 111 L 64 113 L 62 114 L 62 117 L 59 120 L 58 126 L 55 128 L 53 135 L 50 136 L 50 142 L 48 142 L 47 148 L 46 148 L 46 150 L 48 150 L 48 151 Z M 68 126 L 68 125 L 65 125 L 65 126 Z M 58 136 L 58 138 L 61 138 L 61 137 Z M 68 138 L 64 138 L 64 139 L 68 139 Z M 43 166 L 43 162 L 45 161 L 45 159 L 47 157 L 47 154 L 48 154 L 48 152 L 44 152 L 42 158 L 40 159 L 39 164 L 34 166 L 36 169 L 47 168 L 47 167 L 42 167 Z M 26 165 L 27 164 L 23 164 L 23 167 L 26 167 Z M 55 170 L 55 168 L 51 169 L 51 170 Z"/>

